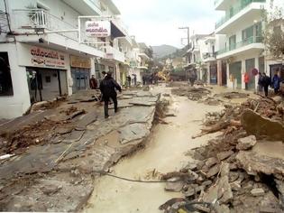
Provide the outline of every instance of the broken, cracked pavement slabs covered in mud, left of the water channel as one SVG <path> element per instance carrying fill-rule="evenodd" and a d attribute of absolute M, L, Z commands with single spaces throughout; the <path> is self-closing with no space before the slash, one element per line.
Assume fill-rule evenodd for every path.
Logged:
<path fill-rule="evenodd" d="M 91 93 L 78 94 L 0 125 L 1 155 L 15 153 L 0 161 L 0 209 L 78 211 L 94 178 L 143 146 L 159 100 L 125 91 L 119 112 L 105 120 Z"/>

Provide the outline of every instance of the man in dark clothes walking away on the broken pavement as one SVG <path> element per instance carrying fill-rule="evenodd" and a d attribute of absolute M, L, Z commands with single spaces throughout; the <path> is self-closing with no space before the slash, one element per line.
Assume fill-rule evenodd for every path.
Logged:
<path fill-rule="evenodd" d="M 105 118 L 108 117 L 108 102 L 109 98 L 112 98 L 115 104 L 115 113 L 117 112 L 117 94 L 115 88 L 122 92 L 122 88 L 118 85 L 115 79 L 112 78 L 112 73 L 107 72 L 105 79 L 100 83 L 99 89 L 103 94 L 103 99 L 105 101 Z"/>

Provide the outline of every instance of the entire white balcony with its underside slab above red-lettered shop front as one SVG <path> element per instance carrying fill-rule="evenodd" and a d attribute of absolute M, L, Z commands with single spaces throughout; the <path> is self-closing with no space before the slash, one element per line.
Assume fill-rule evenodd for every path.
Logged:
<path fill-rule="evenodd" d="M 78 26 L 41 9 L 14 10 L 11 18 L 12 30 L 18 42 L 41 45 L 60 51 L 80 52 L 96 57 L 105 56 L 93 44 L 78 42 Z M 42 36 L 44 35 L 44 36 Z M 42 42 L 39 43 L 39 38 Z"/>

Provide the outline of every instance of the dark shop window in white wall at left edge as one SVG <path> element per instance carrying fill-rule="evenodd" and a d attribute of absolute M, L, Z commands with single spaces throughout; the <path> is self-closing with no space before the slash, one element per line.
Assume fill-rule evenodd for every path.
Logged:
<path fill-rule="evenodd" d="M 0 52 L 0 96 L 13 96 L 13 84 L 7 52 Z"/>

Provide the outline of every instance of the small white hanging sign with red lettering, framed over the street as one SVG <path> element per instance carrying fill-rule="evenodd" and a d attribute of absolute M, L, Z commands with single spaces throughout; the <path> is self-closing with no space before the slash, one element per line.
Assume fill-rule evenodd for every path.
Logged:
<path fill-rule="evenodd" d="M 86 22 L 86 34 L 88 37 L 97 38 L 110 36 L 111 24 L 108 21 L 88 21 Z"/>

